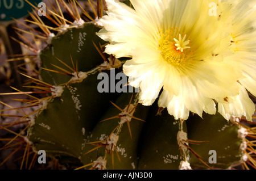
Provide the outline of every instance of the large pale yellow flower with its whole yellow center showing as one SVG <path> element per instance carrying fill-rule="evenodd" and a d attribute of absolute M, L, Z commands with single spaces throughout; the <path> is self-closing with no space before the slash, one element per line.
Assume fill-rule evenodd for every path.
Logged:
<path fill-rule="evenodd" d="M 214 1 L 130 2 L 134 9 L 106 0 L 107 15 L 101 18 L 104 28 L 97 34 L 110 42 L 106 53 L 117 58 L 132 57 L 123 65 L 123 72 L 129 76 L 131 86 L 141 88 L 139 102 L 150 106 L 163 89 L 159 107 L 167 108 L 175 119 L 185 120 L 190 111 L 199 116 L 203 111 L 216 113 L 216 100 L 224 105 L 227 97 L 246 97 L 246 90 L 237 82 L 243 78 L 242 71 L 225 61 L 233 53 L 229 46 L 230 29 L 224 30 L 225 26 L 232 27 L 226 23 L 232 14 L 227 8 L 229 3 L 216 1 L 226 11 L 220 19 L 218 15 L 209 15 L 209 3 Z M 155 77 L 157 81 L 152 81 Z M 239 106 L 242 111 L 237 113 L 240 116 L 251 101 L 243 100 Z M 233 114 L 231 108 L 224 107 L 222 115 Z"/>

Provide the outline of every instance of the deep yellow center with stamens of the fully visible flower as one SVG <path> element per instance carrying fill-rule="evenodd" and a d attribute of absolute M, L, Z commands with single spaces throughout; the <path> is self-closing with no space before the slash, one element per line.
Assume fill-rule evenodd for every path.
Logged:
<path fill-rule="evenodd" d="M 177 29 L 160 33 L 159 50 L 164 60 L 176 66 L 185 66 L 193 54 L 187 35 L 177 32 Z"/>

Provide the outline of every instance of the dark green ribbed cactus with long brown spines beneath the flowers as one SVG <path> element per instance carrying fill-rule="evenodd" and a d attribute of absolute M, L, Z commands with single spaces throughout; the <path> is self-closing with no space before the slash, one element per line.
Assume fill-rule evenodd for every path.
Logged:
<path fill-rule="evenodd" d="M 46 18 L 57 28 L 48 27 L 31 14 L 43 32 L 33 35 L 34 39 L 47 45 L 43 49 L 31 47 L 40 59 L 39 75 L 23 75 L 32 81 L 27 87 L 36 90 L 23 92 L 30 100 L 18 100 L 27 104 L 24 107 L 36 106 L 37 110 L 14 122 L 26 121 L 22 131 L 26 136 L 16 133 L 5 146 L 23 138 L 25 142 L 18 147 L 25 148 L 21 168 L 31 150 L 35 151 L 31 165 L 37 151 L 45 150 L 67 169 L 228 169 L 234 164 L 255 169 L 256 132 L 243 124 L 247 123 L 244 119 L 226 121 L 219 113 L 205 113 L 202 119 L 191 113 L 187 120 L 175 120 L 157 103 L 138 103 L 139 93 L 119 77 L 128 58 L 106 55 L 108 42 L 96 35 L 102 28 L 98 19 L 104 14 L 104 1 L 97 1 L 97 11 L 88 1 L 95 18 L 75 0 L 56 3 L 59 10 L 52 6 Z M 61 8 L 73 22 L 64 18 Z M 91 22 L 84 22 L 81 12 Z M 113 85 L 127 91 L 113 91 Z M 46 96 L 33 95 L 39 93 Z"/>

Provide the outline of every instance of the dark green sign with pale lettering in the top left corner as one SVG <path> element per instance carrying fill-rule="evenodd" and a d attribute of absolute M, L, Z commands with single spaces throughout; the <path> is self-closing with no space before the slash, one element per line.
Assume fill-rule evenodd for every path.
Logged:
<path fill-rule="evenodd" d="M 28 1 L 31 2 L 32 5 L 36 6 L 42 0 Z M 13 20 L 11 18 L 22 18 L 31 10 L 31 6 L 25 0 L 0 0 L 0 22 Z"/>

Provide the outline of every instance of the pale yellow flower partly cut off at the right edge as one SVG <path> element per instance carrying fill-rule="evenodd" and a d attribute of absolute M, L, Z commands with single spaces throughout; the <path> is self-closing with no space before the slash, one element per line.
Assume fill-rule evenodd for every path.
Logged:
<path fill-rule="evenodd" d="M 225 6 L 229 7 L 229 15 L 222 18 L 222 14 L 219 14 L 221 23 L 224 23 L 226 27 L 225 31 L 230 35 L 229 41 L 226 42 L 229 44 L 229 49 L 225 49 L 224 61 L 242 74 L 242 77 L 238 79 L 239 95 L 216 99 L 218 111 L 227 120 L 231 116 L 242 117 L 244 115 L 247 120 L 251 121 L 251 115 L 255 111 L 255 105 L 246 91 L 247 89 L 256 96 L 255 5 L 256 2 L 250 0 L 229 1 L 225 3 Z"/>

